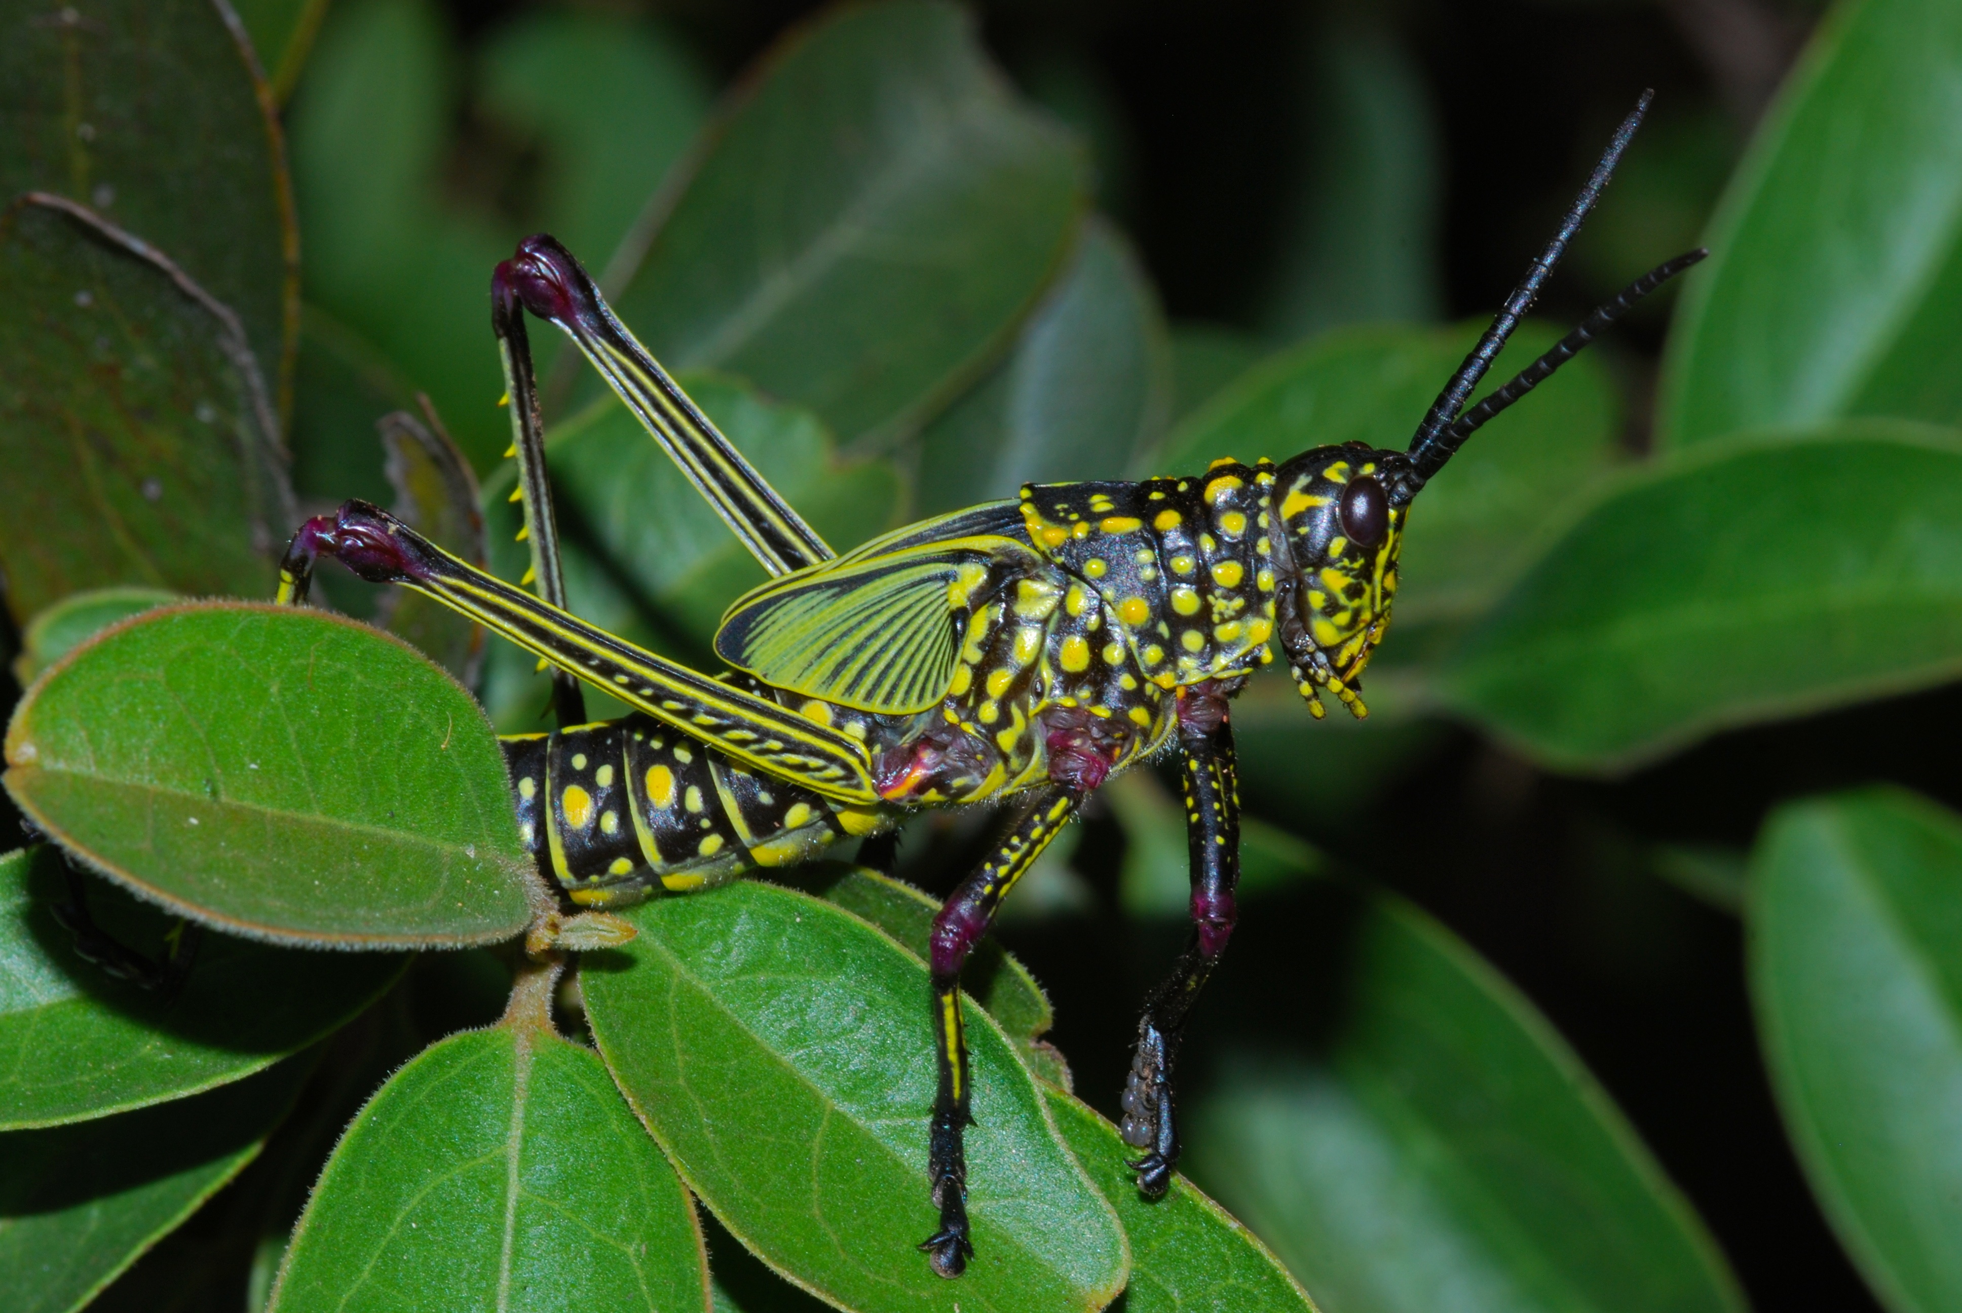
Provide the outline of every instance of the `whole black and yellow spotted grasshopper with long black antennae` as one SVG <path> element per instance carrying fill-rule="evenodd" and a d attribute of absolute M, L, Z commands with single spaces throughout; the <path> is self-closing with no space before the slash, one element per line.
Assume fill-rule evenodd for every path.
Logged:
<path fill-rule="evenodd" d="M 1122 1093 L 1136 1185 L 1179 1160 L 1173 1066 L 1193 1001 L 1234 930 L 1238 797 L 1230 701 L 1279 652 L 1307 707 L 1364 716 L 1411 502 L 1481 424 L 1524 396 L 1691 251 L 1636 279 L 1519 377 L 1466 410 L 1607 184 L 1650 96 L 1405 451 L 1313 447 L 1205 475 L 1030 485 L 910 524 L 846 555 L 779 497 L 614 318 L 579 261 L 528 237 L 490 283 L 532 569 L 514 587 L 387 512 L 349 500 L 308 520 L 281 565 L 304 603 L 318 557 L 416 589 L 534 652 L 559 728 L 504 738 L 518 826 L 581 907 L 704 889 L 879 836 L 922 807 L 1005 805 L 991 854 L 932 930 L 938 1091 L 928 1180 L 940 1229 L 920 1248 L 959 1276 L 973 1244 L 959 975 L 1001 901 L 1110 775 L 1175 756 L 1191 850 L 1189 946 L 1146 999 Z M 698 673 L 571 614 L 559 569 L 526 312 L 563 330 L 773 575 L 736 599 Z M 536 583 L 536 593 L 524 585 Z M 634 707 L 585 722 L 579 681 Z"/>

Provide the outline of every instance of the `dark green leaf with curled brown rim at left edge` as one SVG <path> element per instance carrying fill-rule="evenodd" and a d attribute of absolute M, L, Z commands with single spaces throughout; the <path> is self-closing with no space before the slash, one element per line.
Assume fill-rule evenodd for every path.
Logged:
<path fill-rule="evenodd" d="M 16 620 L 110 585 L 269 593 L 292 493 L 232 312 L 153 249 L 43 204 L 0 218 L 0 283 L 14 491 L 0 569 Z"/>

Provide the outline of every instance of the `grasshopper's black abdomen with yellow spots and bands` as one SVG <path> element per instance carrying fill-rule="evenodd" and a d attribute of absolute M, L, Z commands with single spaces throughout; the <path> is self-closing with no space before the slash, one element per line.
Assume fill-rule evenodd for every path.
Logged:
<path fill-rule="evenodd" d="M 649 716 L 502 744 L 524 846 L 585 907 L 793 866 L 897 822 L 891 809 L 846 807 L 759 775 Z"/>

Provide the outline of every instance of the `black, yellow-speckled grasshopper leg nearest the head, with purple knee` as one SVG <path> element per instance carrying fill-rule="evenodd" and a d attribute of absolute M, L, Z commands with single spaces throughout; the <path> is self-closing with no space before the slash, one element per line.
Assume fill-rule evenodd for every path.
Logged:
<path fill-rule="evenodd" d="M 1240 789 L 1234 779 L 1232 726 L 1226 722 L 1226 699 L 1201 689 L 1179 691 L 1193 938 L 1171 975 L 1144 1001 L 1138 1050 L 1122 1097 L 1120 1130 L 1126 1144 L 1146 1150 L 1130 1166 L 1138 1174 L 1138 1191 L 1148 1199 L 1158 1199 L 1171 1187 L 1171 1170 L 1179 1162 L 1171 1068 L 1193 1001 L 1232 936 L 1234 887 L 1240 883 Z"/>

